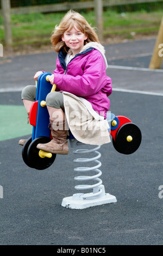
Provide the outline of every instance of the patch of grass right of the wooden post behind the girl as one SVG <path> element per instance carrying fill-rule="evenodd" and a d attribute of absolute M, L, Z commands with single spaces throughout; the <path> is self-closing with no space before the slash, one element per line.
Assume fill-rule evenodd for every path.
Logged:
<path fill-rule="evenodd" d="M 162 18 L 161 11 L 146 13 L 136 11 L 134 13 L 105 13 L 104 35 L 121 35 L 124 38 L 131 38 L 131 34 L 152 34 L 158 32 Z"/>

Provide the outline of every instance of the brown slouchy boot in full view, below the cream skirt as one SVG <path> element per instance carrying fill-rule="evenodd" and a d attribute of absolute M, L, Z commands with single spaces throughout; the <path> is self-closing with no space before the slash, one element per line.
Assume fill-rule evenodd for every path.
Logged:
<path fill-rule="evenodd" d="M 52 154 L 67 155 L 68 142 L 67 142 L 67 131 L 65 129 L 65 120 L 59 122 L 59 125 L 57 126 L 58 122 L 55 122 L 50 119 L 50 124 L 51 124 L 51 134 L 53 137 L 52 141 L 46 144 L 39 143 L 36 148 Z M 53 130 L 53 128 L 58 130 Z"/>

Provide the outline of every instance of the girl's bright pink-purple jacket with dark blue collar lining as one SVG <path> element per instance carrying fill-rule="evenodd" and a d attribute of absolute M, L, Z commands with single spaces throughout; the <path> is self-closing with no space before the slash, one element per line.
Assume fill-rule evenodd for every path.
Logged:
<path fill-rule="evenodd" d="M 100 51 L 93 47 L 76 54 L 67 67 L 66 53 L 60 51 L 57 58 L 57 69 L 53 71 L 57 90 L 84 97 L 92 108 L 106 118 L 112 92 L 111 78 L 106 76 L 105 62 Z"/>

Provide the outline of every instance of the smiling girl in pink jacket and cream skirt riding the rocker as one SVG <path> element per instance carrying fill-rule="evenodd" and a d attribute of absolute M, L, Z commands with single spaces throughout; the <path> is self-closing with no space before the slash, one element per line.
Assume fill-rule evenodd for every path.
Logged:
<path fill-rule="evenodd" d="M 94 145 L 110 142 L 106 112 L 110 106 L 111 78 L 106 76 L 105 51 L 97 34 L 82 15 L 70 10 L 60 25 L 55 26 L 51 42 L 54 51 L 58 52 L 57 69 L 49 78 L 57 88 L 46 97 L 53 139 L 38 144 L 37 148 L 68 154 L 65 117 L 78 141 Z M 37 72 L 34 79 L 37 80 L 42 72 Z M 22 90 L 28 114 L 35 96 L 35 86 Z M 21 140 L 19 144 L 24 142 Z"/>

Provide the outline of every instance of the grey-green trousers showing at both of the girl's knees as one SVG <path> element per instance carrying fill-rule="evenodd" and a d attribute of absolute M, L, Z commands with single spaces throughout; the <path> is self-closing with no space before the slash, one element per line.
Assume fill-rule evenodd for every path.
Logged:
<path fill-rule="evenodd" d="M 36 87 L 26 86 L 22 90 L 22 100 L 35 101 Z M 64 96 L 61 92 L 51 92 L 46 96 L 46 105 L 54 108 L 61 108 L 64 111 Z"/>

